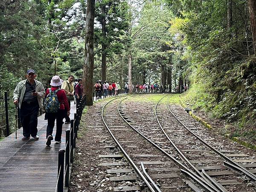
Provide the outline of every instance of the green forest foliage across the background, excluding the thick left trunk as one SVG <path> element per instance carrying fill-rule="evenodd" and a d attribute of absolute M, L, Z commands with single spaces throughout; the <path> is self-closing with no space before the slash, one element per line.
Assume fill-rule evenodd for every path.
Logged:
<path fill-rule="evenodd" d="M 241 125 L 255 117 L 252 0 L 96 0 L 94 8 L 91 82 L 189 86 L 189 99 L 214 116 Z M 3 0 L 0 9 L 1 91 L 29 68 L 45 87 L 56 74 L 86 76 L 85 0 Z"/>

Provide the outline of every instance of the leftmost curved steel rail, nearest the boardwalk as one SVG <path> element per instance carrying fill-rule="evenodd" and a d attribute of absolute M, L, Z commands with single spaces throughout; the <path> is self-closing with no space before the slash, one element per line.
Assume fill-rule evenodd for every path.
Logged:
<path fill-rule="evenodd" d="M 120 97 L 119 97 L 120 98 Z M 115 98 L 115 99 L 119 99 L 119 98 Z M 119 149 L 122 151 L 122 153 L 125 155 L 126 159 L 131 163 L 131 165 L 134 167 L 134 169 L 136 170 L 136 172 L 140 175 L 140 177 L 142 177 L 143 181 L 145 182 L 145 184 L 148 186 L 149 190 L 151 192 L 155 192 L 155 190 L 153 189 L 153 187 L 150 185 L 150 183 L 148 182 L 148 180 L 144 177 L 144 175 L 142 174 L 142 172 L 140 172 L 140 169 L 135 165 L 135 163 L 133 162 L 133 160 L 131 160 L 131 158 L 129 157 L 129 155 L 125 152 L 125 150 L 122 148 L 122 146 L 120 145 L 120 143 L 116 140 L 116 137 L 112 134 L 110 128 L 108 128 L 107 123 L 105 122 L 104 118 L 103 118 L 103 111 L 106 105 L 108 105 L 108 103 L 112 102 L 113 100 L 107 102 L 103 108 L 102 108 L 102 121 L 104 122 L 105 127 L 107 128 L 109 134 L 111 134 L 111 137 L 113 138 L 113 140 L 116 142 L 116 144 L 118 145 Z M 126 98 L 125 98 L 126 99 Z"/>

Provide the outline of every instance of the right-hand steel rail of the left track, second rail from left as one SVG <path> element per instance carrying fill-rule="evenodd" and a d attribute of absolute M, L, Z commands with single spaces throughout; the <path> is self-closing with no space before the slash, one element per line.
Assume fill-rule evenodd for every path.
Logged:
<path fill-rule="evenodd" d="M 203 187 L 206 191 L 208 192 L 219 192 L 218 189 L 216 189 L 215 187 L 213 187 L 212 185 L 210 185 L 210 183 L 208 183 L 206 180 L 204 180 L 203 178 L 199 177 L 197 174 L 195 174 L 195 172 L 193 172 L 192 170 L 190 170 L 189 168 L 187 168 L 186 166 L 184 166 L 182 163 L 180 163 L 179 161 L 177 161 L 174 157 L 172 157 L 169 153 L 167 153 L 166 151 L 164 151 L 162 148 L 160 148 L 156 143 L 154 143 L 153 141 L 149 140 L 147 137 L 145 137 L 145 135 L 143 135 L 142 133 L 140 133 L 140 131 L 138 131 L 136 128 L 134 128 L 128 121 L 126 121 L 126 119 L 122 116 L 122 114 L 119 111 L 119 105 L 120 103 L 125 100 L 127 98 L 122 99 L 118 106 L 117 106 L 117 110 L 119 115 L 122 117 L 122 119 L 134 130 L 136 131 L 138 134 L 140 134 L 145 140 L 147 140 L 149 143 L 151 143 L 152 145 L 154 145 L 154 147 L 156 147 L 158 150 L 160 150 L 163 154 L 165 154 L 167 157 L 169 157 L 170 159 L 172 159 L 175 163 L 177 163 L 179 166 L 181 166 L 186 172 L 188 172 L 188 175 L 193 176 L 192 178 L 197 178 L 197 182 L 198 184 Z"/>

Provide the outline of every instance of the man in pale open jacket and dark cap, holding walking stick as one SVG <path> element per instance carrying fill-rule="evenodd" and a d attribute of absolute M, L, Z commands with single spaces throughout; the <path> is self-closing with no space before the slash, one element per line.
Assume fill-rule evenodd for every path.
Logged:
<path fill-rule="evenodd" d="M 27 79 L 20 81 L 13 92 L 13 102 L 20 108 L 20 121 L 24 136 L 21 140 L 30 139 L 30 135 L 35 140 L 39 140 L 37 135 L 38 110 L 43 106 L 45 90 L 43 84 L 35 80 L 35 77 L 34 70 L 27 70 Z"/>

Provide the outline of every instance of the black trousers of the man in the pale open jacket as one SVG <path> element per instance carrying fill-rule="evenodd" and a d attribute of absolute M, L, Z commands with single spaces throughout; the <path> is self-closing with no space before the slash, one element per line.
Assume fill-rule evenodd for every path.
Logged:
<path fill-rule="evenodd" d="M 38 102 L 22 102 L 20 107 L 20 122 L 23 127 L 23 136 L 36 136 L 38 129 Z"/>

